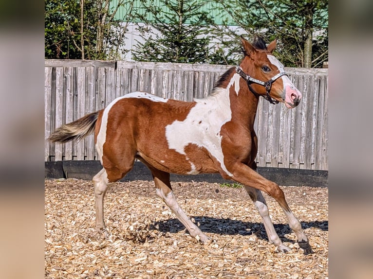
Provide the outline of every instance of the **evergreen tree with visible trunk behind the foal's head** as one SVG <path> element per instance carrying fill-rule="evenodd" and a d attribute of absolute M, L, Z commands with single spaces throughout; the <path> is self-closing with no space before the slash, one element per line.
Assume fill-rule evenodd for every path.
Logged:
<path fill-rule="evenodd" d="M 276 55 L 287 67 L 321 67 L 328 60 L 328 0 L 215 1 L 226 19 L 214 33 L 235 61 L 241 59 L 242 33 L 278 38 Z"/>

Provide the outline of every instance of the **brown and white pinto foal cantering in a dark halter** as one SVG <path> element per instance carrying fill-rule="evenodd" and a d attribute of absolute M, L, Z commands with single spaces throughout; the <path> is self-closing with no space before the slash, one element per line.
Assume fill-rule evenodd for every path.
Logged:
<path fill-rule="evenodd" d="M 57 128 L 51 142 L 81 140 L 94 131 L 95 148 L 103 166 L 94 175 L 96 230 L 107 237 L 104 197 L 109 187 L 131 171 L 135 159 L 151 171 L 156 194 L 166 203 L 189 234 L 201 241 L 210 237 L 181 209 L 172 192 L 170 173 L 217 173 L 241 183 L 258 209 L 270 243 L 281 252 L 283 244 L 270 219 L 262 192 L 273 197 L 283 209 L 304 254 L 313 253 L 301 224 L 289 208 L 283 191 L 275 182 L 256 171 L 258 140 L 254 120 L 259 98 L 271 104 L 296 107 L 302 97 L 283 65 L 272 54 L 276 39 L 266 46 L 256 35 L 251 44 L 241 37 L 244 58 L 218 79 L 203 99 L 183 102 L 146 92 L 118 97 L 106 108 Z"/>

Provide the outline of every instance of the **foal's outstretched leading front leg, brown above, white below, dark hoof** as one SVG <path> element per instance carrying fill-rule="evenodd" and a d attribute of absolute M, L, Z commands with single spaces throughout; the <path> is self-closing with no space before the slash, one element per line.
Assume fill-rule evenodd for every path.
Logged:
<path fill-rule="evenodd" d="M 293 212 L 289 208 L 285 199 L 285 195 L 280 189 L 279 185 L 264 178 L 242 162 L 233 163 L 230 166 L 227 166 L 227 169 L 231 174 L 233 174 L 233 176 L 230 177 L 231 179 L 242 183 L 243 185 L 264 191 L 271 197 L 273 197 L 280 204 L 288 220 L 289 227 L 296 234 L 299 247 L 304 250 L 304 254 L 313 253 L 312 248 L 308 242 L 308 238 L 303 232 L 299 220 L 294 216 Z"/>

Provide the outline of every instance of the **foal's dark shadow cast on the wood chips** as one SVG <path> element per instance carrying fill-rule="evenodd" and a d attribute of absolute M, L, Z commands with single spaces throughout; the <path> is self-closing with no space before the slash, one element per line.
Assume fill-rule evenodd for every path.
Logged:
<path fill-rule="evenodd" d="M 214 218 L 205 216 L 194 216 L 192 219 L 194 219 L 195 223 L 203 232 L 226 235 L 255 234 L 258 238 L 268 241 L 263 223 L 243 222 L 240 220 L 232 220 L 230 218 Z M 329 221 L 301 222 L 301 225 L 303 229 L 315 227 L 323 231 L 329 230 Z M 294 243 L 294 240 L 285 237 L 286 234 L 292 233 L 291 228 L 287 224 L 273 224 L 273 226 L 283 242 Z M 184 225 L 181 224 L 178 219 L 157 221 L 152 223 L 150 227 L 164 233 L 176 233 L 185 229 Z"/>

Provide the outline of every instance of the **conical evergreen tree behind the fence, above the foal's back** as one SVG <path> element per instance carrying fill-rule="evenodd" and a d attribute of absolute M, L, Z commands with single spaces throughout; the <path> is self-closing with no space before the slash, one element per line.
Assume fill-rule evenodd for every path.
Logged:
<path fill-rule="evenodd" d="M 132 56 L 137 61 L 173 63 L 211 63 L 207 37 L 210 19 L 201 11 L 198 0 L 143 1 L 144 13 L 136 17 L 145 25 L 138 25 L 144 42 L 134 46 Z M 219 57 L 221 59 L 221 57 Z"/>

